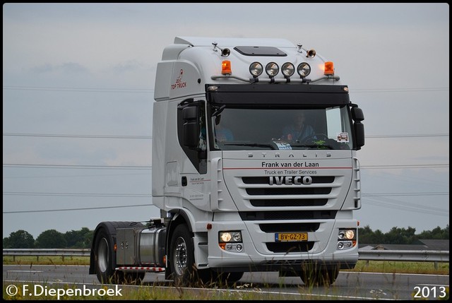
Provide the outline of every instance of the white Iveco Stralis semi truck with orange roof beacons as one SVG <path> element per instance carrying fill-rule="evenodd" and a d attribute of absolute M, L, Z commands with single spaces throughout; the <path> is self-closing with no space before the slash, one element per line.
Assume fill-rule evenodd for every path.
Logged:
<path fill-rule="evenodd" d="M 333 62 L 283 39 L 176 37 L 154 98 L 161 218 L 100 222 L 90 274 L 194 285 L 278 271 L 331 285 L 355 266 L 364 115 Z M 314 133 L 285 133 L 301 113 Z"/>

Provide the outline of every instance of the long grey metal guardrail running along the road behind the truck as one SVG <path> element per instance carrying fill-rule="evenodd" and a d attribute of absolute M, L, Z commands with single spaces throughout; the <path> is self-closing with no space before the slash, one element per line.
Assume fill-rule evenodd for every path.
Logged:
<path fill-rule="evenodd" d="M 4 256 L 90 256 L 90 249 L 3 249 Z M 448 262 L 449 251 L 360 250 L 359 260 Z"/>

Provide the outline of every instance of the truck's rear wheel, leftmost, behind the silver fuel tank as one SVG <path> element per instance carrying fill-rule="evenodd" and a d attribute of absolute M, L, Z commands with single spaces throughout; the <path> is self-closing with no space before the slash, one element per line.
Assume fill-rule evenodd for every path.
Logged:
<path fill-rule="evenodd" d="M 95 271 L 97 280 L 102 284 L 119 284 L 123 273 L 114 270 L 114 253 L 112 237 L 104 228 L 99 230 L 94 245 Z"/>

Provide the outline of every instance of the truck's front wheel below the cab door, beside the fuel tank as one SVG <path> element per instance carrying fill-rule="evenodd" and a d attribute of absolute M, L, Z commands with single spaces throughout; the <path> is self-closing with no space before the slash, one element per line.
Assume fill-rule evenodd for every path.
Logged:
<path fill-rule="evenodd" d="M 169 266 L 177 286 L 190 286 L 198 280 L 194 261 L 194 244 L 189 228 L 177 225 L 169 244 Z"/>

